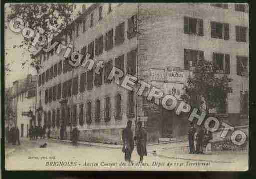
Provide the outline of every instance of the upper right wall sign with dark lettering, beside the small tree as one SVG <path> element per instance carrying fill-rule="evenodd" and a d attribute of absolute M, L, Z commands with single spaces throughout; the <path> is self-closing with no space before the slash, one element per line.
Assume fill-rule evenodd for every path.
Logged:
<path fill-rule="evenodd" d="M 181 68 L 167 67 L 166 68 L 166 81 L 184 82 L 185 77 Z"/>

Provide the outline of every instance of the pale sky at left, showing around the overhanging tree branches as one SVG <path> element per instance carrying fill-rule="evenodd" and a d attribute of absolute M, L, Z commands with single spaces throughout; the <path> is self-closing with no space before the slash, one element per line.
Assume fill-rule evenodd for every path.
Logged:
<path fill-rule="evenodd" d="M 88 8 L 91 3 L 87 3 L 86 7 Z M 82 3 L 77 3 L 77 10 L 81 10 Z M 9 8 L 5 8 L 5 16 L 9 13 Z M 35 75 L 36 71 L 29 66 L 29 64 L 25 64 L 22 68 L 21 63 L 26 59 L 30 58 L 28 53 L 25 53 L 22 56 L 22 49 L 13 48 L 13 45 L 19 45 L 23 40 L 23 36 L 21 33 L 12 32 L 9 28 L 4 29 L 4 61 L 6 63 L 10 63 L 11 71 L 4 74 L 5 87 L 11 87 L 12 82 L 25 78 L 28 74 Z M 7 52 L 7 54 L 6 54 Z"/>

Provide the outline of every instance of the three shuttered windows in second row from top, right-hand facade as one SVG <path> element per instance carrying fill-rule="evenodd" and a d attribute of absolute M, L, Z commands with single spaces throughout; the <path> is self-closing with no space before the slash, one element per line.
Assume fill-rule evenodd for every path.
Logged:
<path fill-rule="evenodd" d="M 211 21 L 211 37 L 228 40 L 229 24 Z M 247 27 L 236 25 L 236 41 L 247 42 Z M 204 35 L 204 21 L 203 19 L 184 16 L 184 33 Z"/>

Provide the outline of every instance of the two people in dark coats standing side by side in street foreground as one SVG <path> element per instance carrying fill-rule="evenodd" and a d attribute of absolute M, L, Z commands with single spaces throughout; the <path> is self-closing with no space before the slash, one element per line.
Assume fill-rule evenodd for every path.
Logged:
<path fill-rule="evenodd" d="M 132 162 L 131 156 L 132 151 L 134 149 L 134 140 L 136 141 L 137 153 L 140 156 L 140 163 L 143 162 L 143 156 L 147 156 L 147 132 L 142 128 L 142 122 L 139 121 L 137 123 L 138 130 L 135 133 L 135 137 L 133 137 L 132 133 L 132 121 L 127 122 L 127 127 L 122 131 L 122 140 L 123 140 L 123 148 L 122 151 L 124 153 L 124 160 L 126 162 Z"/>

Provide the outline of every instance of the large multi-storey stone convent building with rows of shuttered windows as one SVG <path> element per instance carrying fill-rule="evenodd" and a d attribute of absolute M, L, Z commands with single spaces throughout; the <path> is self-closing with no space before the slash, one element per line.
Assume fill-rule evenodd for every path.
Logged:
<path fill-rule="evenodd" d="M 136 96 L 138 88 L 130 92 L 107 76 L 115 66 L 179 98 L 197 60 L 204 58 L 219 65 L 220 75 L 233 78 L 233 93 L 212 113 L 241 125 L 241 114 L 248 111 L 248 25 L 247 4 L 92 4 L 54 40 L 92 54 L 104 67 L 96 75 L 81 66 L 72 68 L 65 50 L 37 53 L 42 65 L 37 121 L 57 139 L 60 128 L 69 138 L 76 126 L 80 140 L 119 143 L 127 120 L 133 121 L 133 129 L 142 121 L 149 142 L 185 136 L 187 116 L 164 111 Z"/>

